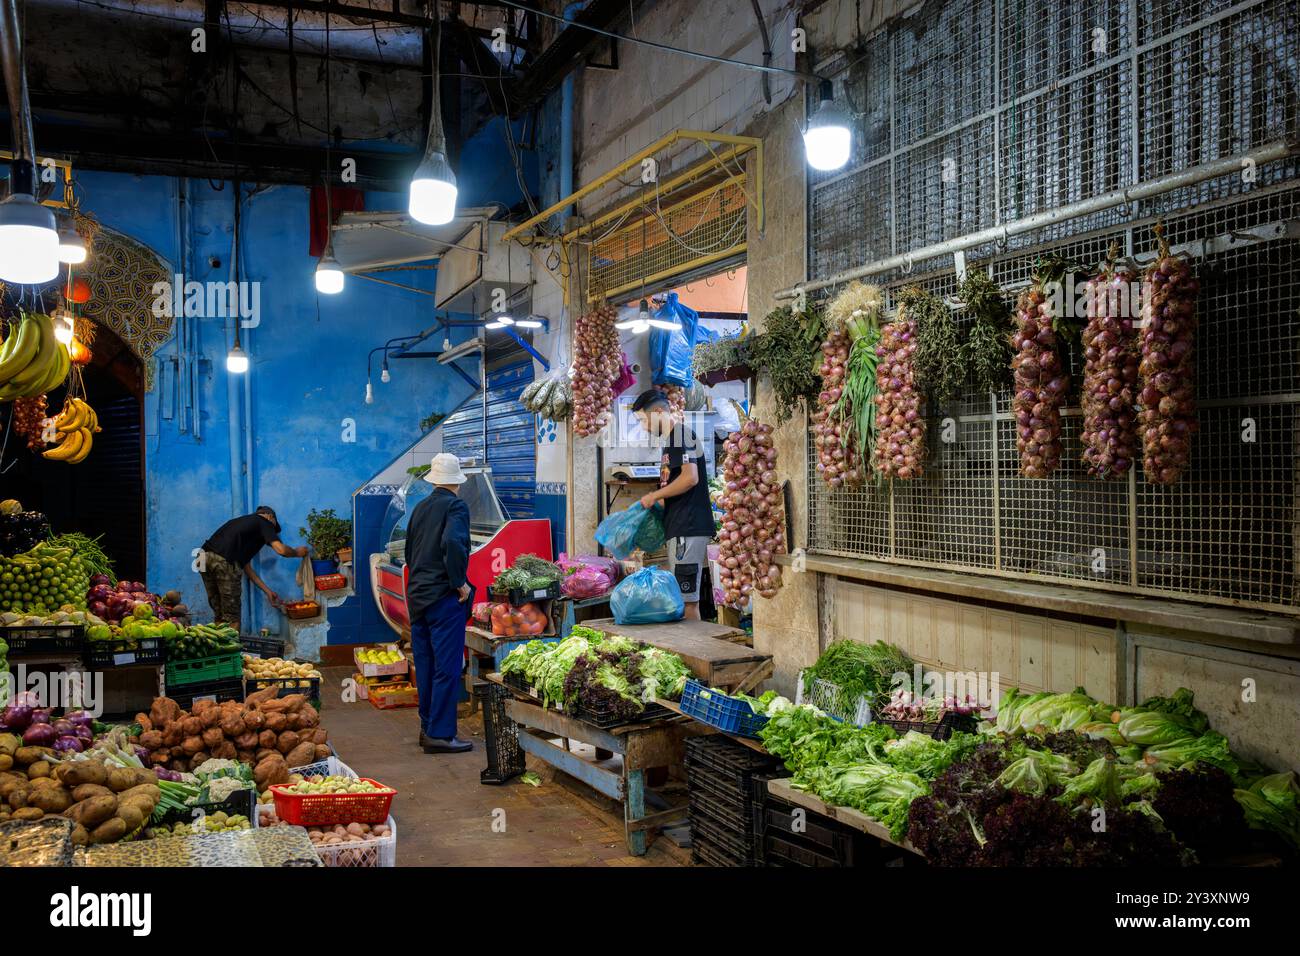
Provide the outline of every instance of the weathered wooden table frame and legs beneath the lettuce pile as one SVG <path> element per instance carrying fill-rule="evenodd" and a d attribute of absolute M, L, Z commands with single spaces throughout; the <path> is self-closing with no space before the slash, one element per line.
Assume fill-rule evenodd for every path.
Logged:
<path fill-rule="evenodd" d="M 684 717 L 666 717 L 602 730 L 554 708 L 543 708 L 540 701 L 502 683 L 499 674 L 489 674 L 485 679 L 502 684 L 514 696 L 506 701 L 506 715 L 517 724 L 521 750 L 623 804 L 628 853 L 645 855 L 647 831 L 686 819 L 685 805 L 646 813 L 645 773 L 653 767 L 681 763 L 685 739 L 710 734 L 712 727 Z M 564 745 L 556 744 L 556 739 L 564 741 Z M 571 752 L 569 740 L 618 753 L 623 757 L 623 766 L 619 770 L 599 766 Z"/>

